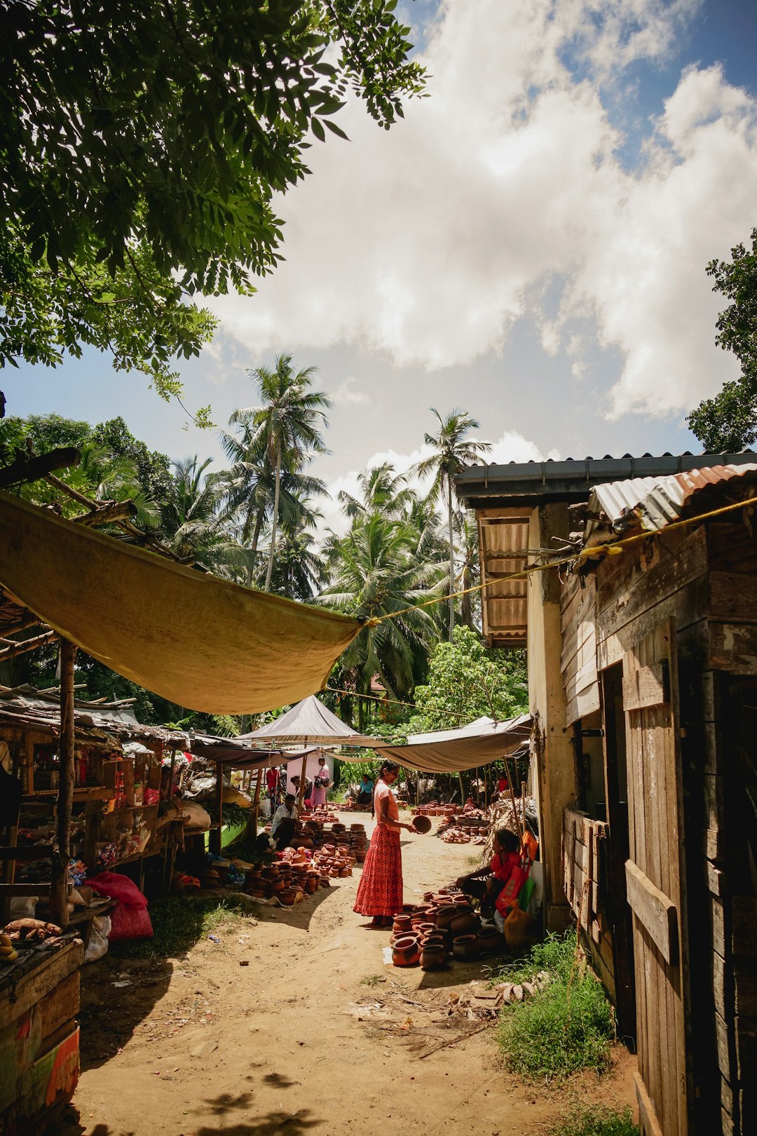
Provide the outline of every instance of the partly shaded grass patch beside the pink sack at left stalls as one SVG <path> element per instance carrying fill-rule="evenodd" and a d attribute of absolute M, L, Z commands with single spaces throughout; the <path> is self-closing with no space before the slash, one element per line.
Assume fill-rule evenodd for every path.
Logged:
<path fill-rule="evenodd" d="M 238 932 L 255 916 L 258 909 L 246 896 L 178 896 L 153 900 L 150 918 L 153 938 L 138 943 L 113 943 L 111 952 L 121 959 L 153 959 L 158 955 L 183 954 L 207 935 L 218 930 Z"/>

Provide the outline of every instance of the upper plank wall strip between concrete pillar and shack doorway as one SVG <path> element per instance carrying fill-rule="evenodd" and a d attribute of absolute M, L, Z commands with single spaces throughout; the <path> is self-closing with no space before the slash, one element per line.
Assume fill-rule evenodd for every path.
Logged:
<path fill-rule="evenodd" d="M 572 573 L 561 596 L 563 675 L 567 711 L 565 725 L 599 709 L 597 682 L 597 583 L 592 575 L 583 580 Z"/>

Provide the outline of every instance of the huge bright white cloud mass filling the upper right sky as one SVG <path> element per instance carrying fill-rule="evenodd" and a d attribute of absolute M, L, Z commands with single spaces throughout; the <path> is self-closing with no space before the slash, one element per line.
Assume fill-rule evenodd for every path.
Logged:
<path fill-rule="evenodd" d="M 717 67 L 689 68 L 629 172 L 603 102 L 609 76 L 616 93 L 630 62 L 661 62 L 699 7 L 445 0 L 430 98 L 388 133 L 345 108 L 352 141 L 316 144 L 313 176 L 280 204 L 286 262 L 256 296 L 211 301 L 224 326 L 258 353 L 352 343 L 434 370 L 502 349 L 529 314 L 575 377 L 594 340 L 620 350 L 612 416 L 717 390 L 734 364 L 714 346 L 705 265 L 754 224 L 757 106 Z M 337 396 L 355 402 L 348 384 Z"/>

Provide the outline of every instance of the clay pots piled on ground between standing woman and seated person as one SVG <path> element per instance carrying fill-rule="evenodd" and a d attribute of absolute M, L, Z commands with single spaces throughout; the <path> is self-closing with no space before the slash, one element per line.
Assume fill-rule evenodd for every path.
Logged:
<path fill-rule="evenodd" d="M 462 892 L 445 888 L 427 892 L 422 904 L 409 904 L 392 925 L 392 961 L 395 967 L 421 964 L 440 970 L 449 958 L 470 961 L 502 946 L 496 927 L 482 926 Z"/>

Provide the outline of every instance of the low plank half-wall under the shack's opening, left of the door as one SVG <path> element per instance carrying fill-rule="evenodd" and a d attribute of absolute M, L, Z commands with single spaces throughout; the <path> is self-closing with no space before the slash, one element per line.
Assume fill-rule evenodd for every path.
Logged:
<path fill-rule="evenodd" d="M 591 962 L 611 1000 L 615 1001 L 613 936 L 606 914 L 608 826 L 584 812 L 563 815 L 563 885 L 581 927 Z"/>

